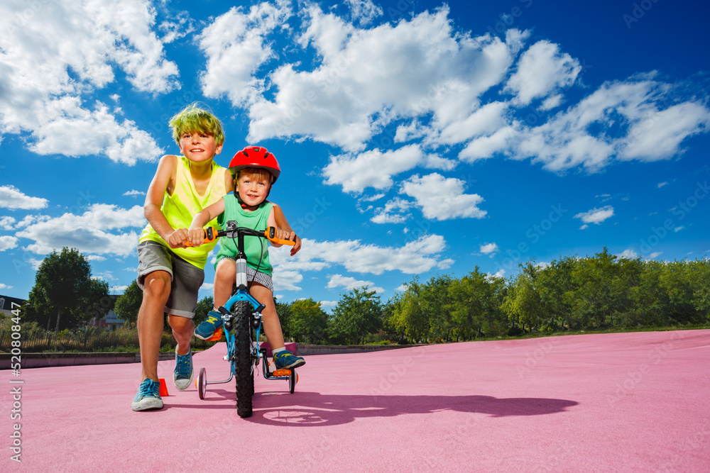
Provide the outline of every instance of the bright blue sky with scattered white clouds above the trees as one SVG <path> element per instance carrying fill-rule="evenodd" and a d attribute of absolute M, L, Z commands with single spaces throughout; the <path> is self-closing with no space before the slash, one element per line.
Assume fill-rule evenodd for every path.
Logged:
<path fill-rule="evenodd" d="M 29 6 L 28 6 L 29 5 Z M 5 1 L 0 294 L 76 247 L 135 278 L 167 127 L 201 101 L 263 145 L 304 241 L 275 295 L 710 251 L 709 7 L 690 1 Z M 200 297 L 212 294 L 211 265 Z"/>

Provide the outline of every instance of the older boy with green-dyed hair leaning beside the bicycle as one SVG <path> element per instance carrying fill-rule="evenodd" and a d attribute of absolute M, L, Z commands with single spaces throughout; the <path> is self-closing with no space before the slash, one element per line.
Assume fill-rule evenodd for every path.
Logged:
<path fill-rule="evenodd" d="M 138 286 L 143 289 L 138 342 L 143 381 L 131 403 L 133 411 L 163 407 L 158 384 L 163 313 L 168 313 L 178 342 L 173 382 L 180 390 L 190 386 L 192 317 L 204 280 L 203 268 L 214 244 L 185 247 L 187 227 L 195 213 L 222 199 L 233 186 L 227 169 L 214 162 L 222 152 L 224 133 L 212 113 L 192 104 L 175 115 L 170 126 L 182 155 L 160 158 L 144 206 L 148 226 L 138 243 Z"/>

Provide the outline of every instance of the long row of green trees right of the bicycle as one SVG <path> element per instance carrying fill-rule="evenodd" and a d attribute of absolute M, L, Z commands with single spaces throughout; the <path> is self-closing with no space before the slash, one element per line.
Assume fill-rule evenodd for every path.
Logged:
<path fill-rule="evenodd" d="M 284 333 L 300 343 L 442 343 L 481 337 L 702 325 L 710 322 L 709 260 L 659 262 L 611 255 L 520 265 L 511 279 L 482 273 L 420 282 L 386 303 L 375 291 L 344 294 L 332 314 L 312 299 L 278 304 Z"/>

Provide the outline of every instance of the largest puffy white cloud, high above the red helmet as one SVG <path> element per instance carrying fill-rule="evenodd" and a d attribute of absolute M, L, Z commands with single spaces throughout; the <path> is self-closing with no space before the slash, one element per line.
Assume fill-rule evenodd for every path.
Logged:
<path fill-rule="evenodd" d="M 249 106 L 249 139 L 301 135 L 356 151 L 395 118 L 432 114 L 442 129 L 469 116 L 513 55 L 497 37 L 454 32 L 448 13 L 444 6 L 365 29 L 310 7 L 300 45 L 313 45 L 320 64 L 275 69 L 273 101 Z"/>

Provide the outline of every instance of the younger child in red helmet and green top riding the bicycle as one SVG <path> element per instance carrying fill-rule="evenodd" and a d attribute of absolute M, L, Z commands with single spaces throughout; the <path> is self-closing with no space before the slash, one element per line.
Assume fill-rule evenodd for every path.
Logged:
<path fill-rule="evenodd" d="M 224 229 L 226 222 L 237 221 L 240 227 L 253 230 L 264 230 L 267 227 L 278 227 L 275 206 L 266 200 L 273 183 L 280 174 L 280 167 L 274 155 L 266 148 L 248 146 L 239 151 L 229 163 L 229 172 L 236 179 L 234 194 L 228 194 L 216 203 L 197 213 L 190 224 L 190 242 L 201 245 L 204 238 L 203 228 L 209 221 L 217 218 L 219 226 Z M 290 229 L 276 229 L 275 238 L 295 240 L 295 233 Z M 263 245 L 261 238 L 245 238 L 244 252 L 247 257 L 247 280 L 251 282 L 249 293 L 266 305 L 262 311 L 262 321 L 266 338 L 271 345 L 273 361 L 276 369 L 297 368 L 305 365 L 302 357 L 294 355 L 285 349 L 283 332 L 278 320 L 278 314 L 273 303 L 273 283 L 271 281 L 272 267 L 268 257 L 268 245 Z M 281 245 L 271 243 L 279 247 Z M 297 247 L 291 251 L 295 254 Z M 222 238 L 217 253 L 217 264 L 214 274 L 214 310 L 210 311 L 207 320 L 200 323 L 195 330 L 195 337 L 207 340 L 214 331 L 222 325 L 222 315 L 217 307 L 229 300 L 236 280 L 236 243 L 231 238 Z"/>

